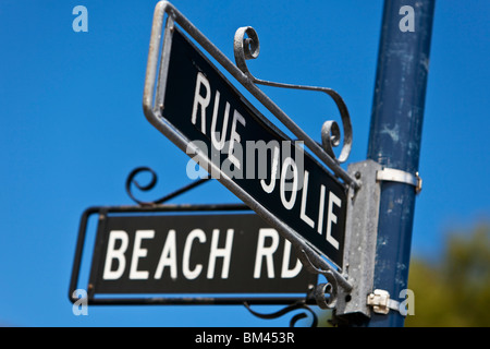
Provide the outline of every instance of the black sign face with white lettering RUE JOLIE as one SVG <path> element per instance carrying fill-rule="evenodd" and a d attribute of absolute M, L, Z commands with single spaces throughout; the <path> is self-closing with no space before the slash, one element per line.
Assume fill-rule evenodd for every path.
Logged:
<path fill-rule="evenodd" d="M 345 186 L 261 116 L 176 27 L 172 33 L 157 91 L 166 134 L 253 209 L 264 207 L 256 210 L 268 221 L 279 220 L 342 266 Z"/>

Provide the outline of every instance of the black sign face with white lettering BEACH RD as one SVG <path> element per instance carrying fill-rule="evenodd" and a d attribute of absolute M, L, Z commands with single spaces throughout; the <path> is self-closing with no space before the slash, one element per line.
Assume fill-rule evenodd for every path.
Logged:
<path fill-rule="evenodd" d="M 102 217 L 94 294 L 306 294 L 316 285 L 291 243 L 252 213 Z"/>

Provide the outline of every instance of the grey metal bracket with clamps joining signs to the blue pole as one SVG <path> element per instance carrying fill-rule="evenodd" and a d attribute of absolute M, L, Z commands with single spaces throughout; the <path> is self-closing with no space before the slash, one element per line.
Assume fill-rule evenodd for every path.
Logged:
<path fill-rule="evenodd" d="M 362 183 L 360 190 L 351 189 L 345 227 L 345 273 L 354 287 L 346 298 L 339 297 L 334 315 L 342 318 L 355 313 L 370 316 L 371 312 L 400 312 L 400 302 L 390 299 L 388 291 L 372 291 L 381 181 L 407 183 L 419 192 L 421 179 L 418 173 L 383 168 L 372 160 L 351 164 L 348 172 Z"/>

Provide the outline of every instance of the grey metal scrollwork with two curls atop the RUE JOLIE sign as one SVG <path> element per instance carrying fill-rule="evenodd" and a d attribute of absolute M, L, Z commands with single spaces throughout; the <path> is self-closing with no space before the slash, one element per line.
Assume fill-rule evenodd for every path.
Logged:
<path fill-rule="evenodd" d="M 236 67 L 255 84 L 272 87 L 317 91 L 329 95 L 339 108 L 342 119 L 344 135 L 343 146 L 339 157 L 336 157 L 333 153 L 333 147 L 340 145 L 341 133 L 339 124 L 335 121 L 330 120 L 326 121 L 321 128 L 321 144 L 323 151 L 336 163 L 342 164 L 347 160 L 348 155 L 351 154 L 353 141 L 351 117 L 348 115 L 347 106 L 335 91 L 328 87 L 284 84 L 255 77 L 248 70 L 246 63 L 246 60 L 256 59 L 260 52 L 260 41 L 257 33 L 252 26 L 241 27 L 236 31 L 233 41 L 233 51 Z"/>

